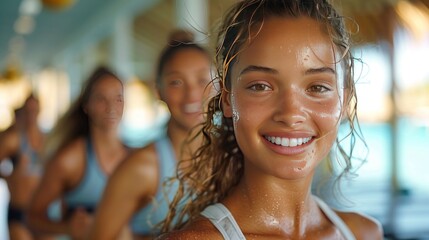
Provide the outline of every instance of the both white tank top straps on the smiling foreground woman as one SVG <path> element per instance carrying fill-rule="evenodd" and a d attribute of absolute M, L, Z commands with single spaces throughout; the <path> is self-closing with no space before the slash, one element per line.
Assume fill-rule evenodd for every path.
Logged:
<path fill-rule="evenodd" d="M 315 196 L 314 199 L 322 212 L 337 227 L 337 229 L 340 230 L 345 239 L 356 239 L 344 221 L 325 202 Z M 223 204 L 216 203 L 214 205 L 210 205 L 201 212 L 201 215 L 210 220 L 225 240 L 246 239 L 231 212 Z"/>

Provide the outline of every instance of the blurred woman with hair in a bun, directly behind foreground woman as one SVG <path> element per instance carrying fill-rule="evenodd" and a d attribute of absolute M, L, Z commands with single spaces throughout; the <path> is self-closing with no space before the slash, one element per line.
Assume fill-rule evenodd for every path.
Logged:
<path fill-rule="evenodd" d="M 133 153 L 109 179 L 95 216 L 90 239 L 115 239 L 130 220 L 136 239 L 151 239 L 166 217 L 185 139 L 203 121 L 203 102 L 210 94 L 210 55 L 185 31 L 173 32 L 162 52 L 156 85 L 171 113 L 166 135 Z M 188 146 L 192 152 L 197 144 Z M 168 199 L 165 199 L 168 198 Z M 133 217 L 134 216 L 134 217 Z"/>

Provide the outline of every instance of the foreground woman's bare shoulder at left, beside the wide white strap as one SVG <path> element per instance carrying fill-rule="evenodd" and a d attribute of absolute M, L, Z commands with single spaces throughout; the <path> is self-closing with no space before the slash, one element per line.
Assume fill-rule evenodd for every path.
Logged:
<path fill-rule="evenodd" d="M 223 240 L 223 237 L 207 218 L 200 217 L 186 225 L 183 229 L 171 231 L 157 238 L 157 240 L 194 239 Z"/>

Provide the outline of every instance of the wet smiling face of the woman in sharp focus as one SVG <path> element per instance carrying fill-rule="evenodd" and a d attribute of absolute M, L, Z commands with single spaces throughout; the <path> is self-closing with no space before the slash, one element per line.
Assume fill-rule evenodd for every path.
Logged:
<path fill-rule="evenodd" d="M 338 58 L 321 25 L 305 17 L 269 18 L 243 47 L 222 101 L 246 172 L 297 179 L 329 153 L 344 99 Z"/>

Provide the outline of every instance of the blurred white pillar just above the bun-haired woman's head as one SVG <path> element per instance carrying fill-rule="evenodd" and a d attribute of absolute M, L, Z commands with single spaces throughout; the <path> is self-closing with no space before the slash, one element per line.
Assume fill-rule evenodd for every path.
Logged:
<path fill-rule="evenodd" d="M 207 0 L 176 0 L 176 27 L 194 32 L 199 44 L 208 43 L 208 7 Z"/>

